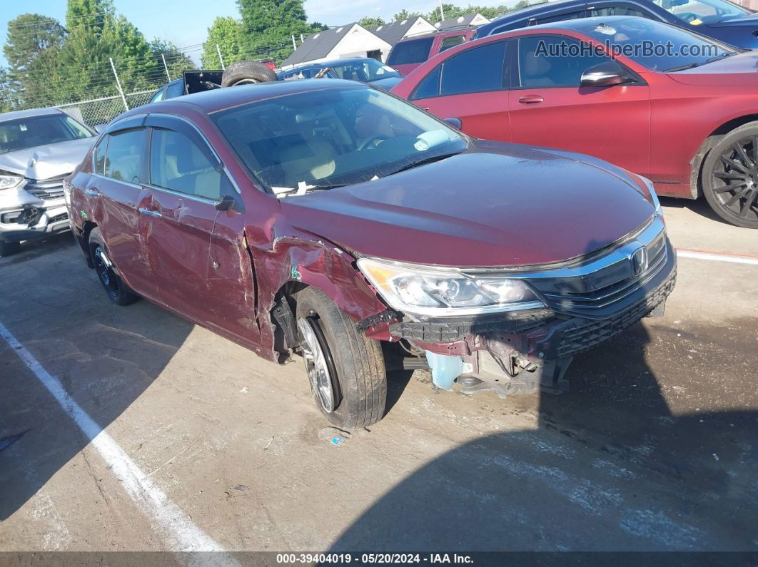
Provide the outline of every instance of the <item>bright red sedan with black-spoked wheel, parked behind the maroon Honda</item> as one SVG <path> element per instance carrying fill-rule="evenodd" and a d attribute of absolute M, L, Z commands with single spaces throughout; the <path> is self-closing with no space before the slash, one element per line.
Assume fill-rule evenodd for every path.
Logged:
<path fill-rule="evenodd" d="M 758 228 L 758 51 L 641 17 L 531 26 L 451 48 L 393 92 L 464 132 L 579 151 Z"/>

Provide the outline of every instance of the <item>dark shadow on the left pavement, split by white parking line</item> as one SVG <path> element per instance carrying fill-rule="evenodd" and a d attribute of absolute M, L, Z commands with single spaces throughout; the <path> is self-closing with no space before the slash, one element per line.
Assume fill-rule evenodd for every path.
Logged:
<path fill-rule="evenodd" d="M 58 239 L 2 266 L 14 285 L 0 296 L 0 322 L 105 429 L 161 375 L 193 325 L 148 301 L 111 304 L 71 235 Z M 92 440 L 2 339 L 0 375 L 2 522 Z M 80 481 L 99 490 L 95 469 Z M 40 502 L 29 513 L 44 513 L 35 511 Z"/>

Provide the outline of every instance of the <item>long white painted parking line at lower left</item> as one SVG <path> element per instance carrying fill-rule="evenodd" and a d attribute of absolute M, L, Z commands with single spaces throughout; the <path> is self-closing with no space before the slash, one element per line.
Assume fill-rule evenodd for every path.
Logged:
<path fill-rule="evenodd" d="M 217 551 L 224 549 L 208 537 L 181 511 L 179 506 L 168 500 L 166 494 L 136 466 L 130 456 L 106 433 L 97 422 L 74 401 L 61 382 L 51 375 L 42 364 L 23 346 L 11 332 L 0 323 L 0 337 L 16 351 L 23 363 L 36 375 L 39 382 L 48 389 L 64 412 L 78 425 L 91 441 L 92 447 L 100 453 L 108 469 L 127 491 L 130 498 L 155 521 L 163 531 L 165 543 L 171 551 Z M 206 558 L 211 559 L 211 558 Z M 219 564 L 235 565 L 236 561 L 226 553 L 213 557 Z M 212 560 L 212 559 L 211 559 Z"/>

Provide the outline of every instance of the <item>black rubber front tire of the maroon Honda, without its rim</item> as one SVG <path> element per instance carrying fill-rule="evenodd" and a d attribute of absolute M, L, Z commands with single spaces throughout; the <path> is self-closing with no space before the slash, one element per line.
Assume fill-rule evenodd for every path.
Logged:
<path fill-rule="evenodd" d="M 387 404 L 387 370 L 379 341 L 358 332 L 349 317 L 322 291 L 305 288 L 296 299 L 298 325 L 307 320 L 318 330 L 325 343 L 326 358 L 334 370 L 337 399 L 332 411 L 324 409 L 314 388 L 314 399 L 321 413 L 343 429 L 376 423 L 384 416 Z M 300 331 L 299 340 L 302 351 Z"/>

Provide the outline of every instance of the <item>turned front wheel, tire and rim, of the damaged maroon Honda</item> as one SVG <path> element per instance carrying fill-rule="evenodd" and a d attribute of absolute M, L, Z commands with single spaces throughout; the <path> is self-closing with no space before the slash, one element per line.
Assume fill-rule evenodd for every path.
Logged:
<path fill-rule="evenodd" d="M 355 429 L 384 416 L 387 371 L 378 341 L 356 330 L 326 294 L 297 294 L 300 353 L 321 413 L 337 427 Z"/>

